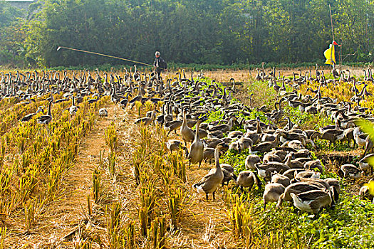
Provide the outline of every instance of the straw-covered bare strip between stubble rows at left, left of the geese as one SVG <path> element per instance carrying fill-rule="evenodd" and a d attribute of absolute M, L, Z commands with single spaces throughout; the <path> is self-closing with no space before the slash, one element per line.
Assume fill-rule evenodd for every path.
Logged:
<path fill-rule="evenodd" d="M 109 117 L 98 119 L 80 144 L 76 164 L 63 176 L 61 194 L 45 208 L 45 213 L 33 225 L 31 234 L 19 234 L 9 241 L 26 248 L 73 248 L 73 239 L 84 213 L 88 211 L 87 196 L 92 188 L 92 172 L 100 151 L 105 149 L 105 128 L 115 119 L 115 106 L 107 107 Z M 70 236 L 67 236 L 71 233 Z M 66 237 L 66 238 L 64 238 Z"/>

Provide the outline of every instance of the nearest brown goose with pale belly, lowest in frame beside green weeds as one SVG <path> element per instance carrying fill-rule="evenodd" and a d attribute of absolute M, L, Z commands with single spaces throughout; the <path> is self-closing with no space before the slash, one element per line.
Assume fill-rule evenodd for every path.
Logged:
<path fill-rule="evenodd" d="M 335 190 L 331 187 L 328 192 L 311 190 L 301 194 L 291 193 L 291 197 L 294 200 L 294 206 L 301 211 L 318 213 L 321 208 L 331 206 L 331 203 L 333 203 L 333 191 Z"/>

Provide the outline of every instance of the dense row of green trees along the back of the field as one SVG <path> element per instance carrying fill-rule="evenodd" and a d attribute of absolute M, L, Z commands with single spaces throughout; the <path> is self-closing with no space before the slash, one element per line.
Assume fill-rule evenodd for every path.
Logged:
<path fill-rule="evenodd" d="M 39 0 L 27 14 L 0 1 L 0 63 L 122 63 L 58 46 L 145 63 L 155 51 L 175 63 L 322 62 L 329 5 L 345 61 L 373 62 L 374 1 Z"/>

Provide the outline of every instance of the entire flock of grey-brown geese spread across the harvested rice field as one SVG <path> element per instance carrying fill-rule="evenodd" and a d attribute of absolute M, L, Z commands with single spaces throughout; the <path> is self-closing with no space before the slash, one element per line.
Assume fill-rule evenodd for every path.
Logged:
<path fill-rule="evenodd" d="M 343 78 L 341 76 L 339 80 Z M 347 179 L 358 179 L 362 174 L 371 174 L 373 166 L 368 159 L 373 154 L 368 153 L 373 148 L 373 142 L 368 134 L 356 127 L 355 121 L 360 118 L 374 121 L 371 110 L 360 107 L 360 101 L 371 95 L 365 85 L 372 82 L 372 79 L 371 70 L 368 70 L 368 74 L 365 72 L 365 78 L 361 82 L 356 82 L 355 78 L 350 79 L 349 75 L 346 80 L 352 82 L 354 97 L 350 101 L 338 102 L 331 97 L 322 97 L 323 88 L 337 84 L 338 80 L 326 80 L 323 71 L 319 72 L 318 68 L 316 78 L 312 78 L 309 71 L 305 76 L 301 72 L 294 73 L 292 80 L 281 78 L 280 74 L 276 77 L 275 69 L 269 75 L 264 70 L 258 70 L 256 80 L 268 80 L 269 87 L 274 88 L 279 95 L 274 110 L 266 106 L 257 108 L 257 111 L 264 112 L 266 120 L 263 121 L 259 117 L 251 119 L 253 107 L 247 107 L 232 98 L 236 92 L 234 79 L 230 80 L 230 87 L 221 88 L 214 80 L 206 80 L 202 72 L 197 78 L 193 77 L 193 72 L 187 78 L 183 71 L 166 82 L 153 73 L 140 73 L 136 67 L 134 72 L 126 71 L 123 76 L 104 73 L 104 77 L 100 76 L 98 70 L 74 72 L 71 78 L 66 71 L 63 75 L 56 71 L 17 72 L 16 75 L 1 73 L 0 98 L 14 97 L 19 102 L 17 105 L 28 105 L 35 102 L 34 99 L 38 96 L 50 95 L 46 98 L 49 101 L 46 115 L 43 107 L 39 107 L 36 112 L 20 120 L 28 122 L 36 115 L 37 122 L 41 124 L 48 124 L 53 120 L 52 104 L 71 101 L 71 107 L 67 111 L 75 115 L 78 105 L 87 95 L 91 96 L 87 100 L 89 103 L 110 95 L 110 99 L 124 110 L 127 106 L 133 108 L 135 102 L 144 105 L 151 101 L 155 104 L 155 109 L 135 123 L 149 125 L 157 122 L 168 135 L 179 132 L 180 140 L 170 139 L 167 141 L 167 148 L 170 151 L 184 150 L 189 164 L 200 166 L 202 161 L 214 159 L 215 166 L 193 185 L 207 199 L 209 194 L 214 199 L 219 186 L 228 184 L 229 181 L 234 181 L 241 189 L 249 190 L 254 185 L 261 189 L 265 182 L 264 209 L 270 202 L 276 202 L 276 207 L 281 208 L 284 201 L 289 201 L 302 211 L 318 213 L 321 208 L 335 205 L 341 186 L 338 179 L 320 179 L 324 170 L 321 161 L 313 158 L 307 149 L 318 148 L 315 139 L 326 139 L 331 144 L 339 141 L 348 144 L 353 142 L 359 147 L 365 147 L 358 166 L 343 164 L 337 173 Z M 308 89 L 311 95 L 298 93 L 301 85 L 311 81 L 319 83 L 318 89 Z M 279 82 L 281 86 L 278 85 Z M 286 85 L 294 90 L 287 91 Z M 364 85 L 365 90 L 359 91 L 360 85 Z M 53 94 L 61 92 L 63 97 L 55 100 Z M 159 102 L 162 106 L 157 110 Z M 290 105 L 301 112 L 323 113 L 331 117 L 335 125 L 321 127 L 319 130 L 299 129 L 289 117 L 285 117 L 282 105 Z M 38 116 L 38 112 L 43 112 L 43 115 Z M 221 113 L 224 118 L 207 122 L 212 113 Z M 108 111 L 102 108 L 99 115 L 108 116 Z M 281 127 L 280 121 L 283 119 L 287 123 Z M 192 129 L 193 127 L 196 129 Z M 235 174 L 236 165 L 219 163 L 220 155 L 227 150 L 237 154 L 249 152 L 244 161 L 246 170 Z M 360 192 L 366 198 L 373 199 L 367 188 Z"/>

